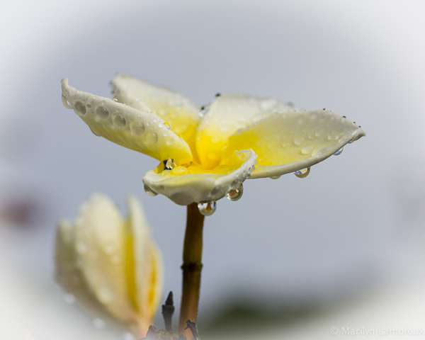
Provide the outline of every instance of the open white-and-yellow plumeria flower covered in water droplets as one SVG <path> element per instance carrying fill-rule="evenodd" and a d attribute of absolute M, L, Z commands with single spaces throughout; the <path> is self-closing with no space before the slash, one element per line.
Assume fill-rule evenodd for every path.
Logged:
<path fill-rule="evenodd" d="M 338 153 L 365 135 L 350 120 L 326 110 L 297 111 L 273 98 L 217 95 L 199 108 L 170 89 L 128 75 L 111 81 L 114 100 L 77 91 L 62 79 L 62 102 L 95 135 L 158 159 L 145 174 L 145 191 L 179 205 L 237 200 L 246 179 L 277 178 Z"/>

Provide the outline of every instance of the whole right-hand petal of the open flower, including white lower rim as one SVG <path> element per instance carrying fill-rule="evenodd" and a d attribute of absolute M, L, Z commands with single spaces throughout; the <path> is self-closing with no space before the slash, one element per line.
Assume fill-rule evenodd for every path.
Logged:
<path fill-rule="evenodd" d="M 355 123 L 330 111 L 276 113 L 229 138 L 222 162 L 249 145 L 259 155 L 251 179 L 307 168 L 365 135 Z"/>

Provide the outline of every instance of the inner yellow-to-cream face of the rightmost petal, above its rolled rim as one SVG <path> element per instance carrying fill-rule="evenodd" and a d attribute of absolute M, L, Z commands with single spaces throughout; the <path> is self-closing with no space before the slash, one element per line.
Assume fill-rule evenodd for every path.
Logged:
<path fill-rule="evenodd" d="M 357 125 L 329 111 L 272 115 L 229 137 L 221 164 L 227 164 L 235 150 L 249 148 L 262 165 L 299 162 L 338 145 L 356 129 Z"/>

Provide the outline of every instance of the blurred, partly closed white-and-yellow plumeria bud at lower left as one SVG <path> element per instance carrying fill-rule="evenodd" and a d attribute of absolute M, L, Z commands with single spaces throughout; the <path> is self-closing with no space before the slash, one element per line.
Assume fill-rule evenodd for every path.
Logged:
<path fill-rule="evenodd" d="M 145 336 L 162 294 L 162 258 L 140 203 L 128 198 L 125 220 L 94 194 L 74 222 L 59 223 L 56 279 L 95 317 Z"/>

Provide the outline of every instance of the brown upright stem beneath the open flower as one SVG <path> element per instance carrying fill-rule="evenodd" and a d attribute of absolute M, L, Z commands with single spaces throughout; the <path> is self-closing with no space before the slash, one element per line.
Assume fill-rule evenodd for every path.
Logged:
<path fill-rule="evenodd" d="M 202 215 L 198 210 L 198 203 L 188 205 L 186 234 L 183 245 L 183 288 L 179 319 L 179 334 L 186 328 L 186 321 L 193 319 L 196 322 L 200 291 L 200 271 L 202 269 Z M 191 339 L 191 332 L 186 333 Z"/>

